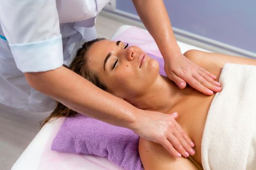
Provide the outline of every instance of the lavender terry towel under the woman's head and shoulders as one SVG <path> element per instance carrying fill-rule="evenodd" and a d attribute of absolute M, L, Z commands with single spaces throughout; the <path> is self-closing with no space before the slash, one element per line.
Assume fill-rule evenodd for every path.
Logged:
<path fill-rule="evenodd" d="M 160 74 L 166 76 L 162 58 Z M 78 114 L 67 118 L 54 138 L 51 149 L 67 153 L 95 154 L 107 157 L 125 170 L 143 170 L 138 154 L 139 136 L 133 131 Z"/>

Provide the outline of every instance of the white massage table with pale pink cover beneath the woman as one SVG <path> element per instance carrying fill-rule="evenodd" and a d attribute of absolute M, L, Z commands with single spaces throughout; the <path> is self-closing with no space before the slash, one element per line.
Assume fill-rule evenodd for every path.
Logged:
<path fill-rule="evenodd" d="M 113 38 L 130 27 L 132 26 L 121 26 Z M 205 51 L 182 42 L 178 42 L 178 45 L 182 53 L 190 49 Z M 51 151 L 51 143 L 64 120 L 65 118 L 60 118 L 45 124 L 20 155 L 12 170 L 123 170 L 104 157 Z"/>

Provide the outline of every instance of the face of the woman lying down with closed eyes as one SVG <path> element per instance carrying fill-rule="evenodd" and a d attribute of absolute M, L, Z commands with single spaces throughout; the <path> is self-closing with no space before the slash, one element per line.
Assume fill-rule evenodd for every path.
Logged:
<path fill-rule="evenodd" d="M 89 69 L 98 73 L 110 93 L 123 99 L 143 95 L 159 75 L 157 60 L 137 46 L 127 47 L 120 41 L 98 41 L 86 56 Z"/>

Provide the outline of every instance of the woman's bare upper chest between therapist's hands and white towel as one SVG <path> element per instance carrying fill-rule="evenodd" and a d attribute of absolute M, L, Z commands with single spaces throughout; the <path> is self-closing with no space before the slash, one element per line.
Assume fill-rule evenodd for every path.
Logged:
<path fill-rule="evenodd" d="M 179 102 L 169 113 L 178 112 L 176 119 L 195 143 L 193 159 L 201 165 L 201 141 L 208 110 L 215 95 L 190 95 Z"/>

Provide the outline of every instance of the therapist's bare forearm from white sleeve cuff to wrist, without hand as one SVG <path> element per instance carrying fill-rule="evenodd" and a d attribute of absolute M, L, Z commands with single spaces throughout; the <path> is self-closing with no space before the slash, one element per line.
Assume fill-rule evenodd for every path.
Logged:
<path fill-rule="evenodd" d="M 139 109 L 67 68 L 25 73 L 25 77 L 35 89 L 89 117 L 132 129 L 139 116 Z"/>

